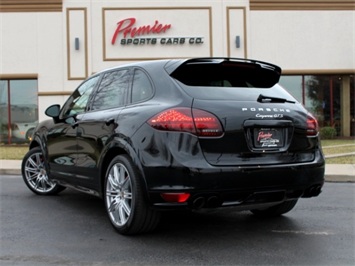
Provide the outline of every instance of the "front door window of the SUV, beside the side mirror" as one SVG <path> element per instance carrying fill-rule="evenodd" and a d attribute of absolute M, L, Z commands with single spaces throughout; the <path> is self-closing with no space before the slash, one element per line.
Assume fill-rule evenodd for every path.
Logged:
<path fill-rule="evenodd" d="M 95 76 L 85 81 L 73 92 L 63 106 L 63 116 L 80 114 L 86 110 L 90 95 L 92 94 L 98 79 L 99 76 Z"/>

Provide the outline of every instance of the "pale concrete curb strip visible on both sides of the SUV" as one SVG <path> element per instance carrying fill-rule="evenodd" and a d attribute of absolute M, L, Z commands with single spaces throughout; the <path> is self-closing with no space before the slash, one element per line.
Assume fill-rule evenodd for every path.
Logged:
<path fill-rule="evenodd" d="M 20 160 L 0 160 L 1 175 L 21 175 Z M 355 182 L 355 164 L 327 164 L 325 166 L 327 182 Z"/>

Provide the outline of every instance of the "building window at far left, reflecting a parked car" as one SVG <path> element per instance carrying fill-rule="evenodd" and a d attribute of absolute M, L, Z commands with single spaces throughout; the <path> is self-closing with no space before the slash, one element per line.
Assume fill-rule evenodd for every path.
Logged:
<path fill-rule="evenodd" d="M 38 123 L 36 79 L 0 80 L 0 142 L 29 142 Z"/>

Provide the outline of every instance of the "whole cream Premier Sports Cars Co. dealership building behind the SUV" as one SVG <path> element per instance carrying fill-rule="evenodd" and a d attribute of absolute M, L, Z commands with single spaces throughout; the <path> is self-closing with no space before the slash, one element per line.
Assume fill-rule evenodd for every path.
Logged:
<path fill-rule="evenodd" d="M 354 0 L 1 0 L 0 142 L 95 72 L 190 57 L 274 63 L 320 127 L 355 135 Z"/>

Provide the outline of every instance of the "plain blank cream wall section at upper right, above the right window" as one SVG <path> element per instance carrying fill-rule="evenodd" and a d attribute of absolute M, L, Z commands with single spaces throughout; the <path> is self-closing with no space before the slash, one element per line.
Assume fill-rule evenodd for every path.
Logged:
<path fill-rule="evenodd" d="M 250 56 L 283 69 L 355 69 L 354 11 L 251 11 Z"/>

